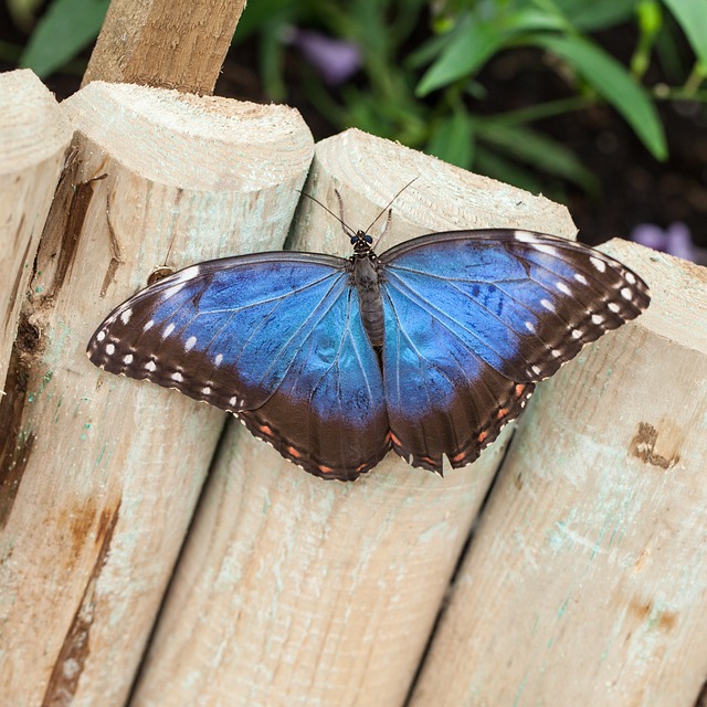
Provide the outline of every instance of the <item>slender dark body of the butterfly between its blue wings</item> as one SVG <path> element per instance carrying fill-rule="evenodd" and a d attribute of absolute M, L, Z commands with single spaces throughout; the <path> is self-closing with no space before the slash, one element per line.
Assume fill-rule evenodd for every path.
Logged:
<path fill-rule="evenodd" d="M 371 236 L 363 231 L 352 235 L 354 255 L 350 262 L 363 328 L 373 348 L 380 349 L 384 335 L 383 300 L 380 296 L 380 266 L 371 243 Z"/>

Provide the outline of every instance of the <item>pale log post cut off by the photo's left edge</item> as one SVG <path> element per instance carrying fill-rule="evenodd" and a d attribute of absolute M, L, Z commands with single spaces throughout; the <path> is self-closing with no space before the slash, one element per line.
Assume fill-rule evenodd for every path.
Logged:
<path fill-rule="evenodd" d="M 29 70 L 0 74 L 0 390 L 20 304 L 71 140 L 54 96 Z M 3 431 L 0 428 L 0 436 Z M 0 440 L 0 446 L 2 446 Z M 0 514 L 1 515 L 1 514 Z"/>

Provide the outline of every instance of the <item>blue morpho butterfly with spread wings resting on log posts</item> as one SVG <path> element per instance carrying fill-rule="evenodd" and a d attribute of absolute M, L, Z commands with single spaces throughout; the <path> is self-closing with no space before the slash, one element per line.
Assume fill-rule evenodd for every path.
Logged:
<path fill-rule="evenodd" d="M 620 262 L 552 235 L 451 231 L 377 255 L 344 228 L 346 260 L 240 255 L 147 287 L 88 357 L 233 412 L 316 476 L 352 481 L 391 449 L 441 474 L 443 454 L 476 460 L 537 381 L 650 303 Z"/>

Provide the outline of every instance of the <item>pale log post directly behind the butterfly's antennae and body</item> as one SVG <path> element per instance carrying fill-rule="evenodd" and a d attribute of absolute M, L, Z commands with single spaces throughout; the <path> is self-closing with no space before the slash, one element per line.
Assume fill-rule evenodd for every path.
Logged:
<path fill-rule="evenodd" d="M 546 199 L 358 130 L 317 146 L 308 191 L 337 213 L 339 188 L 358 229 L 414 177 L 381 250 L 450 228 L 574 232 Z M 296 249 L 348 256 L 348 239 L 319 205 L 303 199 L 296 224 Z M 344 484 L 307 475 L 230 424 L 134 707 L 401 705 L 499 442 L 445 478 L 391 454 Z"/>

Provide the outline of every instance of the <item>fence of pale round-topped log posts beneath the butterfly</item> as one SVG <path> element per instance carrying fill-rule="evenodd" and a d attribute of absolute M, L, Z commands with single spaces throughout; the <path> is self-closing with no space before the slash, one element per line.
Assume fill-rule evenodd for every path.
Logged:
<path fill-rule="evenodd" d="M 325 482 L 96 369 L 89 335 L 160 267 L 288 233 L 347 254 L 297 204 L 305 179 L 365 228 L 416 177 L 387 245 L 570 238 L 567 211 L 357 130 L 314 146 L 283 106 L 101 82 L 56 105 L 28 71 L 0 98 L 2 704 L 695 705 L 704 268 L 612 241 L 650 309 L 540 384 L 515 432 L 444 478 L 389 455 Z"/>

